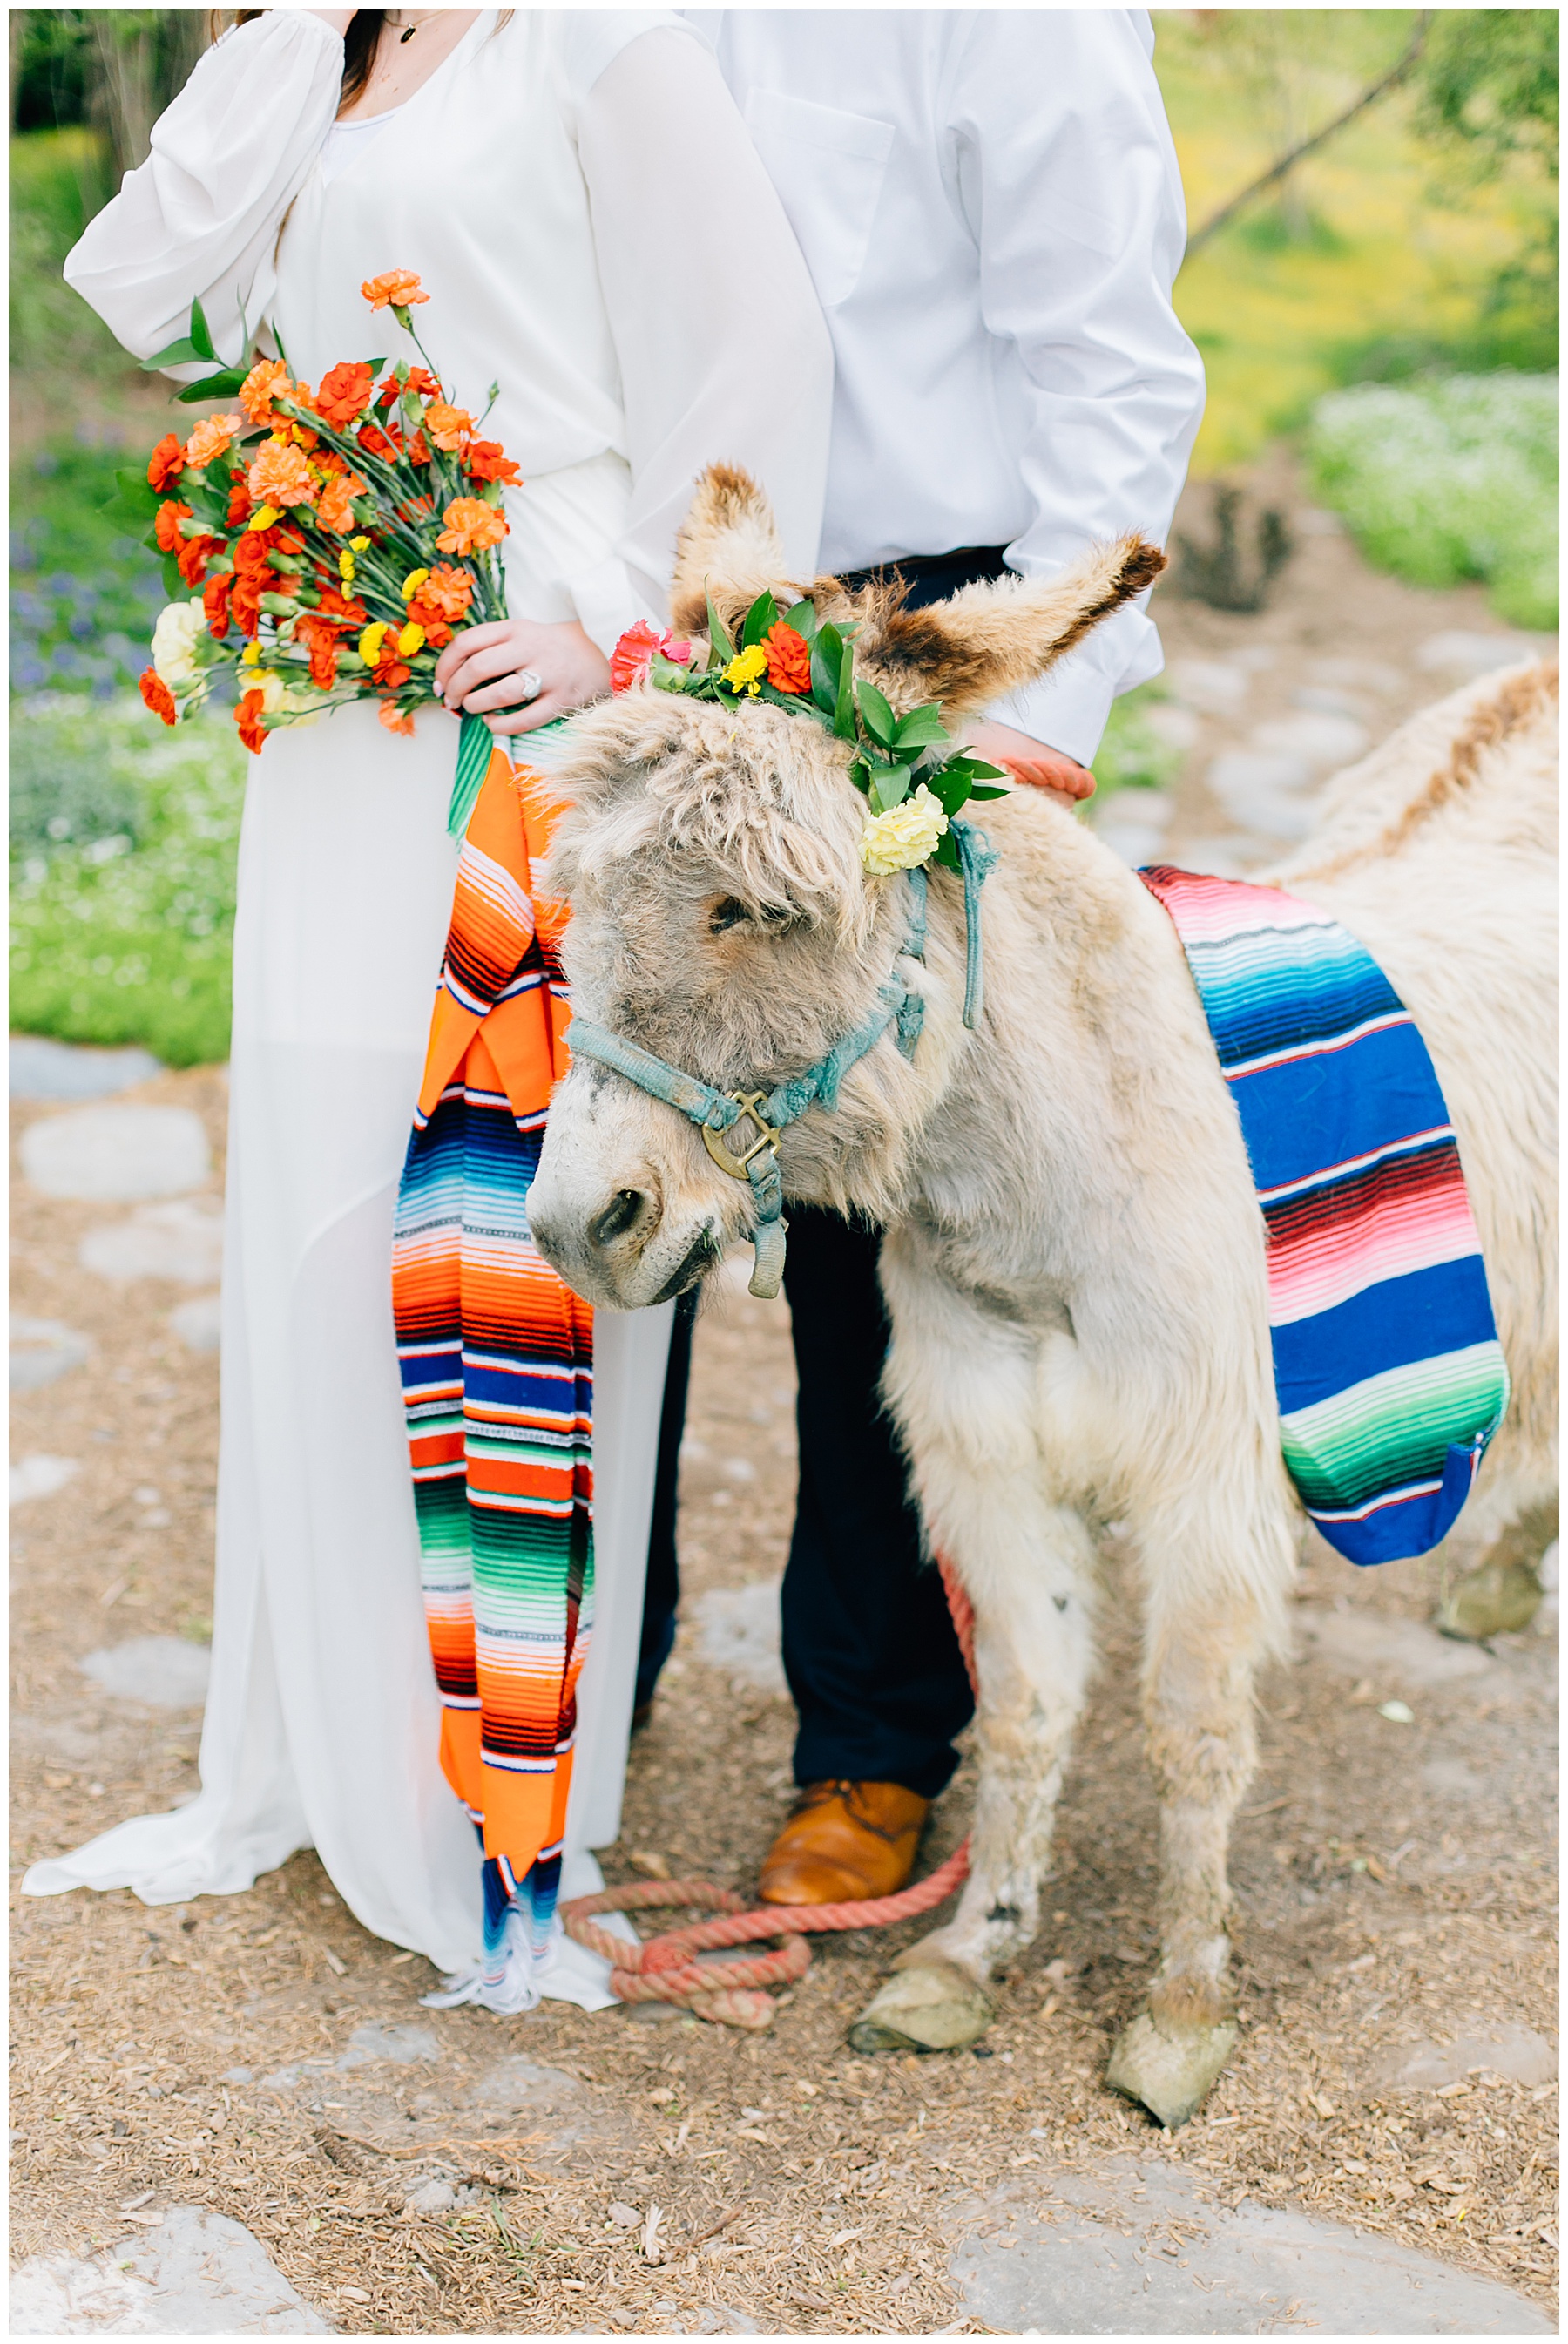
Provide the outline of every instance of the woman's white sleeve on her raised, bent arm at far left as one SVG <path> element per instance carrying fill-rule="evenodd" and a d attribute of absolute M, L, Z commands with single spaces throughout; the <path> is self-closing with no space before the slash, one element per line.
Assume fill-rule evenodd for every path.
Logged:
<path fill-rule="evenodd" d="M 192 298 L 218 354 L 244 356 L 340 89 L 342 40 L 305 9 L 267 9 L 199 59 L 152 152 L 66 260 L 66 281 L 134 356 L 180 340 Z"/>

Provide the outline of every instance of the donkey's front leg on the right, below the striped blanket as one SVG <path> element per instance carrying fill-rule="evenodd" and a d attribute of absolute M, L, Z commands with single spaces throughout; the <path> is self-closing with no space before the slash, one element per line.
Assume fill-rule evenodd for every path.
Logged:
<path fill-rule="evenodd" d="M 1226 1507 L 1226 1514 L 1233 1510 Z M 1291 1580 L 1284 1503 L 1259 1493 L 1252 1535 L 1193 1554 L 1163 1524 L 1144 1542 L 1148 1620 L 1144 1720 L 1160 1791 L 1160 1967 L 1120 2035 L 1106 2081 L 1174 2126 L 1198 2110 L 1235 2044 L 1230 1985 L 1230 1824 L 1256 1765 L 1254 1676 L 1282 1648 Z M 1228 1545 L 1228 1554 L 1223 1547 Z"/>

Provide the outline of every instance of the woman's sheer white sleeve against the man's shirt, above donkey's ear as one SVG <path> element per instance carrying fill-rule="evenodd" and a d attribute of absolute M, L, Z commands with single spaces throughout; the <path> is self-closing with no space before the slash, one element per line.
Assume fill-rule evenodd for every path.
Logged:
<path fill-rule="evenodd" d="M 628 624 L 663 609 L 705 464 L 741 464 L 764 485 L 790 567 L 811 577 L 832 345 L 713 54 L 684 26 L 640 33 L 588 89 L 577 148 L 626 408 Z"/>

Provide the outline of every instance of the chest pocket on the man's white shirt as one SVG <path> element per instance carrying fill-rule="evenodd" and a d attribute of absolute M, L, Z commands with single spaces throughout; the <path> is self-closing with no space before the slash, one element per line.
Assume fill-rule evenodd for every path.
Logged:
<path fill-rule="evenodd" d="M 780 89 L 752 89 L 745 127 L 806 255 L 816 298 L 823 309 L 837 309 L 860 284 L 893 124 Z"/>

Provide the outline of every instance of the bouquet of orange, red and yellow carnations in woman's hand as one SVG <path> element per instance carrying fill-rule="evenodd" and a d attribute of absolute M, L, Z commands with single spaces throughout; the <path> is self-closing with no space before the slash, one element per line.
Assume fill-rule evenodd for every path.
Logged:
<path fill-rule="evenodd" d="M 389 731 L 410 734 L 434 691 L 455 628 L 506 616 L 497 546 L 504 490 L 520 481 L 483 420 L 448 403 L 413 309 L 429 300 L 413 270 L 361 286 L 391 309 L 424 366 L 345 359 L 316 389 L 286 359 L 223 368 L 185 384 L 180 401 L 237 398 L 188 438 L 169 431 L 141 473 L 120 473 L 115 511 L 148 525 L 171 593 L 141 677 L 148 708 L 176 724 L 232 668 L 234 722 L 248 750 L 279 724 L 349 701 L 377 701 Z M 192 302 L 190 338 L 148 368 L 218 363 Z M 495 406 L 495 384 L 490 406 Z M 490 408 L 485 408 L 485 415 Z M 464 717 L 452 792 L 462 830 L 492 736 Z"/>

